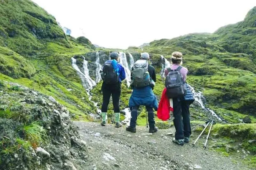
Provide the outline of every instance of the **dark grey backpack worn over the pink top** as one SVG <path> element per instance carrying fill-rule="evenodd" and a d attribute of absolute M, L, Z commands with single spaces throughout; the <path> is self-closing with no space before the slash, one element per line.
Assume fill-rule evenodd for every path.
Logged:
<path fill-rule="evenodd" d="M 172 70 L 170 67 L 167 68 L 169 73 L 165 78 L 165 87 L 168 98 L 180 98 L 187 93 L 186 84 L 180 74 L 181 68 L 182 66 L 179 66 L 175 70 Z"/>

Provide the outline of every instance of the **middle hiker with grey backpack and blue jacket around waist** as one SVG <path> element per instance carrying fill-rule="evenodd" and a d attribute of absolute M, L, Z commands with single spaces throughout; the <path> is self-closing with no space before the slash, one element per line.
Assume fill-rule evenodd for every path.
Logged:
<path fill-rule="evenodd" d="M 131 88 L 133 91 L 129 100 L 129 108 L 132 112 L 130 126 L 126 127 L 126 131 L 133 133 L 136 132 L 136 121 L 140 105 L 146 106 L 148 112 L 149 133 L 154 133 L 158 130 L 155 126 L 153 111 L 153 108 L 157 110 L 157 99 L 153 93 L 156 71 L 153 66 L 149 65 L 148 60 L 149 54 L 142 53 L 140 60 L 134 63 L 131 71 Z"/>

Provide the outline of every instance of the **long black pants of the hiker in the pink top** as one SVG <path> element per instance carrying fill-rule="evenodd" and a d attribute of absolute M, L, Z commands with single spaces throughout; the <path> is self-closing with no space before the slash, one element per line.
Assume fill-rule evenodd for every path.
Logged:
<path fill-rule="evenodd" d="M 176 129 L 175 139 L 184 139 L 190 137 L 191 127 L 189 118 L 189 102 L 180 101 L 173 98 L 173 123 Z"/>

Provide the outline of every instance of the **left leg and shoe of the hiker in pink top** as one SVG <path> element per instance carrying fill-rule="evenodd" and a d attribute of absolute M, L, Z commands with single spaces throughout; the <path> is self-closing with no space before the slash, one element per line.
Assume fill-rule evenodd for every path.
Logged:
<path fill-rule="evenodd" d="M 175 127 L 175 138 L 173 142 L 178 143 L 179 145 L 184 144 L 184 132 L 183 132 L 183 122 L 181 117 L 181 103 L 178 102 L 177 98 L 173 98 L 173 124 Z"/>

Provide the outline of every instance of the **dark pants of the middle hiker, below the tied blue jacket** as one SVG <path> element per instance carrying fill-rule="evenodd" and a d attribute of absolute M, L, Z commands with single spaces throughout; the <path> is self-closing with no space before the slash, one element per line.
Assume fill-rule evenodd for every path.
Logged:
<path fill-rule="evenodd" d="M 136 127 L 136 121 L 137 121 L 138 109 L 139 108 L 140 108 L 140 106 L 134 106 L 132 108 L 130 127 Z M 155 119 L 154 119 L 155 115 L 154 115 L 153 108 L 146 106 L 146 110 L 148 111 L 149 129 L 154 129 L 155 128 Z"/>

